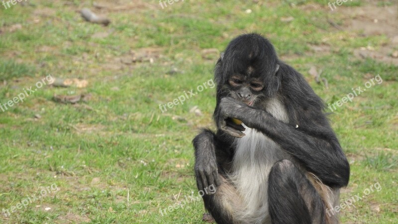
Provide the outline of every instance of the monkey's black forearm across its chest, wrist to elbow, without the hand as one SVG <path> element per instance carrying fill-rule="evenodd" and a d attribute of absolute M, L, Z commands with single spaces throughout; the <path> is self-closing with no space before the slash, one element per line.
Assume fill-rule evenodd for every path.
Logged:
<path fill-rule="evenodd" d="M 257 110 L 255 113 L 254 117 L 257 122 L 251 123 L 251 126 L 272 138 L 303 163 L 323 183 L 336 187 L 348 184 L 349 164 L 336 137 L 325 139 L 311 136 L 296 127 L 277 120 L 265 111 Z M 319 132 L 327 131 L 321 129 L 319 128 Z M 327 132 L 329 133 L 319 134 L 331 134 L 331 130 Z"/>

